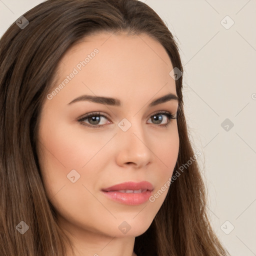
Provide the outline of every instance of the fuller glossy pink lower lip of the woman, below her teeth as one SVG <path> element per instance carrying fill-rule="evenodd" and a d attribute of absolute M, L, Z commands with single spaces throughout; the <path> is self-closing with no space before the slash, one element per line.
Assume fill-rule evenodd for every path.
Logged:
<path fill-rule="evenodd" d="M 139 205 L 150 197 L 152 191 L 146 190 L 141 193 L 122 193 L 118 191 L 102 191 L 108 198 L 128 205 Z"/>

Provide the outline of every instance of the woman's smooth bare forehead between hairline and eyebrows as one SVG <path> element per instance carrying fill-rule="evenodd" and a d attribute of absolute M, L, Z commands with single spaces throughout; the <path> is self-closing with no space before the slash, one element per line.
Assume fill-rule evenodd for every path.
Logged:
<path fill-rule="evenodd" d="M 55 85 L 76 70 L 61 92 L 67 100 L 88 92 L 119 97 L 142 93 L 149 99 L 159 90 L 161 95 L 176 93 L 175 81 L 169 75 L 172 68 L 164 47 L 149 35 L 100 32 L 84 37 L 65 52 Z"/>

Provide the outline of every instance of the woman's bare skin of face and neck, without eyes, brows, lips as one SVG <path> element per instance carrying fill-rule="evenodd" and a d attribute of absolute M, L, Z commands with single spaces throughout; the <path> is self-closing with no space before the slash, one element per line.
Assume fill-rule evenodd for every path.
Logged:
<path fill-rule="evenodd" d="M 173 67 L 162 45 L 146 34 L 100 32 L 66 51 L 52 88 L 94 48 L 99 52 L 42 105 L 37 144 L 40 171 L 58 224 L 73 242 L 76 256 L 135 256 L 135 236 L 150 226 L 167 189 L 154 202 L 140 205 L 113 201 L 101 189 L 146 180 L 154 194 L 171 177 L 179 146 L 176 119 L 159 114 L 163 119 L 157 123 L 150 117 L 162 110 L 176 114 L 178 102 L 148 104 L 170 92 L 176 95 L 169 75 Z M 118 98 L 122 105 L 68 104 L 82 94 Z M 92 111 L 108 116 L 100 117 L 104 126 L 88 127 L 77 120 Z M 123 118 L 131 123 L 125 132 L 118 126 Z M 168 126 L 160 126 L 168 121 Z M 95 125 L 91 119 L 83 123 Z M 80 174 L 74 183 L 67 178 L 72 169 Z M 131 227 L 125 234 L 118 228 L 123 221 Z M 67 255 L 71 256 L 68 248 Z"/>

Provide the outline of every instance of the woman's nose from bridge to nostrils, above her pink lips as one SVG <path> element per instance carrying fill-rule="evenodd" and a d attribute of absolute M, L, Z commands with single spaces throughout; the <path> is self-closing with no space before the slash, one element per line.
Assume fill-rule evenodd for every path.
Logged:
<path fill-rule="evenodd" d="M 119 129 L 116 141 L 118 165 L 134 165 L 135 168 L 142 168 L 152 161 L 150 137 L 149 134 L 145 134 L 141 124 L 132 123 L 126 131 Z"/>

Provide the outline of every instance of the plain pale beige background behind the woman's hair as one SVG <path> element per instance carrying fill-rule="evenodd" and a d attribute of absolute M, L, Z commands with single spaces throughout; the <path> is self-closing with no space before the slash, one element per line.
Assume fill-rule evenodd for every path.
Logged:
<path fill-rule="evenodd" d="M 231 255 L 256 255 L 256 2 L 143 1 L 180 48 L 185 114 L 202 152 L 213 228 Z M 40 2 L 0 0 L 0 36 Z"/>

